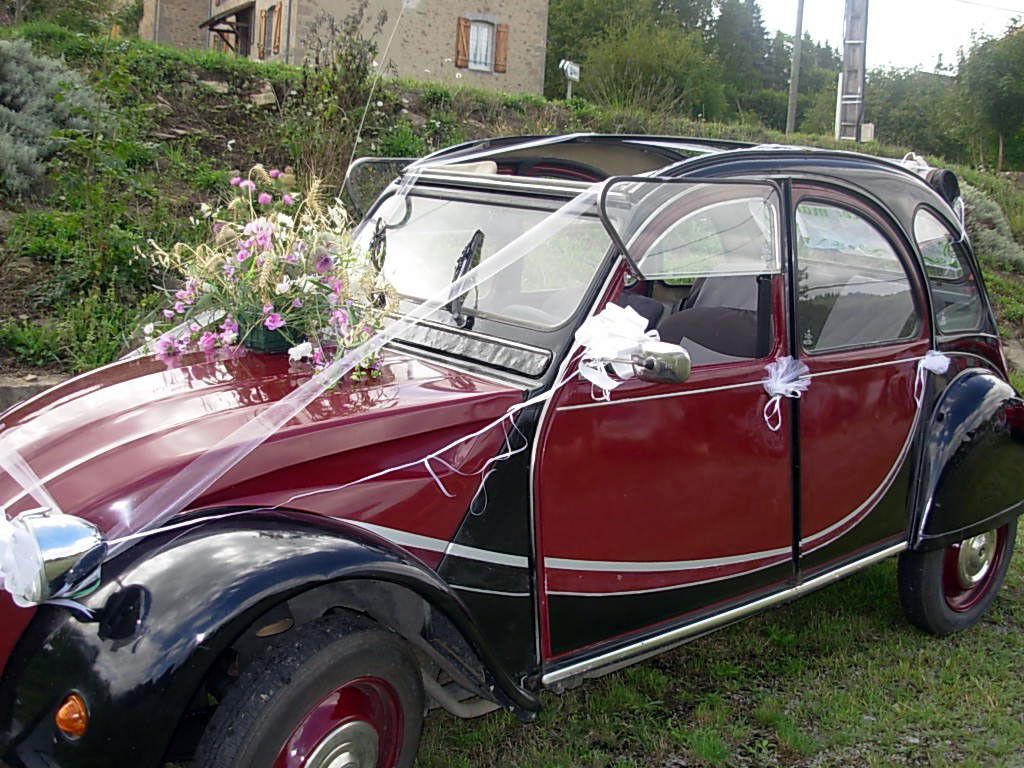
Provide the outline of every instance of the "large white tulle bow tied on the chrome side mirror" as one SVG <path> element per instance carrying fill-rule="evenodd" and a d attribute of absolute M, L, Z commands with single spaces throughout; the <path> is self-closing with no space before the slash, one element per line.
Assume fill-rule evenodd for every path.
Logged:
<path fill-rule="evenodd" d="M 584 349 L 580 375 L 591 383 L 594 399 L 609 399 L 612 389 L 632 379 L 633 364 L 628 360 L 643 342 L 657 340 L 657 331 L 648 331 L 646 318 L 632 307 L 608 304 L 588 317 L 577 331 L 575 341 Z"/>

